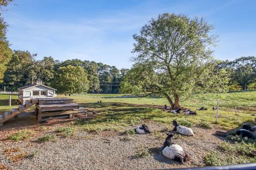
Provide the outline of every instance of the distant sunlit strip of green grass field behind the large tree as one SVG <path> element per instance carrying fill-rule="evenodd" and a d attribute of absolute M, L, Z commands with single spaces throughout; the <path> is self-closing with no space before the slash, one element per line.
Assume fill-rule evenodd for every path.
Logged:
<path fill-rule="evenodd" d="M 90 96 L 87 97 L 86 96 Z M 84 97 L 71 96 L 77 101 L 84 101 L 89 103 L 95 103 L 98 100 L 102 102 L 118 102 L 118 103 L 130 103 L 130 104 L 147 104 L 147 105 L 165 105 L 168 101 L 165 98 L 103 98 L 103 97 L 116 97 L 123 96 L 123 94 L 86 94 Z M 248 92 L 231 92 L 226 94 L 199 94 L 191 96 L 188 100 L 183 101 L 181 97 L 180 104 L 186 107 L 208 107 L 211 109 L 213 106 L 217 106 L 217 101 L 220 100 L 220 107 L 222 108 L 235 108 L 235 104 L 238 109 L 256 109 L 256 91 Z M 63 97 L 63 96 L 60 96 Z M 93 98 L 95 97 L 95 98 Z M 102 97 L 102 98 L 101 98 Z M 183 102 L 182 102 L 183 101 Z"/>

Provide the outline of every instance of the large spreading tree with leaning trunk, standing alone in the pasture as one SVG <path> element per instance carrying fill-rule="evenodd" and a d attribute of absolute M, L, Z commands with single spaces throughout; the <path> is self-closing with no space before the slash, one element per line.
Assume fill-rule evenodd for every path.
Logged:
<path fill-rule="evenodd" d="M 203 79 L 210 77 L 211 46 L 217 38 L 210 34 L 212 29 L 203 18 L 185 15 L 164 13 L 151 19 L 139 35 L 133 35 L 134 65 L 122 91 L 163 95 L 172 108 L 180 107 L 180 96 L 198 91 L 205 86 Z"/>

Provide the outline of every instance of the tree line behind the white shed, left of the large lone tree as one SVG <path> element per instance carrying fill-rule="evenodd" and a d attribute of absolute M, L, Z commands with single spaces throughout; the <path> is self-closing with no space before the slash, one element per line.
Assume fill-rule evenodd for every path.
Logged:
<path fill-rule="evenodd" d="M 13 50 L 6 63 L 2 88 L 5 86 L 7 90 L 16 91 L 40 78 L 46 86 L 57 88 L 61 94 L 118 93 L 119 83 L 128 71 L 94 61 L 73 59 L 60 62 L 51 56 L 37 61 L 36 56 L 28 51 Z"/>

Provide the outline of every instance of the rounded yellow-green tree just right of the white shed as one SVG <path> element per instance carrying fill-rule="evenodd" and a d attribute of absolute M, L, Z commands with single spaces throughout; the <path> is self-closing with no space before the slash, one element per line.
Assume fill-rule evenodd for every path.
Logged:
<path fill-rule="evenodd" d="M 89 89 L 87 74 L 81 66 L 59 67 L 51 84 L 58 93 L 65 95 L 87 92 Z"/>

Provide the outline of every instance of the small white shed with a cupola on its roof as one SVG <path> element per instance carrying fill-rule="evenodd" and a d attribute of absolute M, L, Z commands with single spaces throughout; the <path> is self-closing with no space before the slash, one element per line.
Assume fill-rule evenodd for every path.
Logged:
<path fill-rule="evenodd" d="M 23 86 L 18 88 L 19 99 L 22 104 L 25 104 L 25 101 L 30 101 L 30 99 L 35 98 L 55 98 L 57 95 L 55 94 L 56 89 L 45 86 L 42 84 L 42 80 L 38 79 L 36 84 L 29 84 L 27 86 Z"/>

